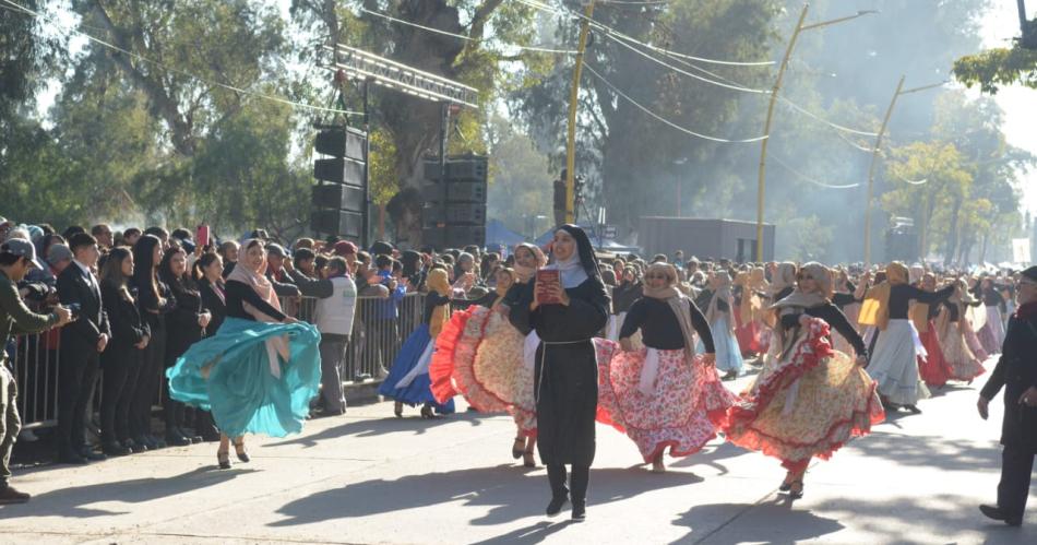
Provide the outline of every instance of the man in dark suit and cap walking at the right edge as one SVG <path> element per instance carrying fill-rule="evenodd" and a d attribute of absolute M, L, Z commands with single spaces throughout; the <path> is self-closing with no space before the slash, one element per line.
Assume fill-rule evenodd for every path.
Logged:
<path fill-rule="evenodd" d="M 979 416 L 987 419 L 990 400 L 1004 387 L 998 505 L 979 510 L 1010 526 L 1023 523 L 1037 454 L 1037 266 L 1023 271 L 1016 294 L 1018 308 L 1009 320 L 1001 358 L 977 403 Z"/>

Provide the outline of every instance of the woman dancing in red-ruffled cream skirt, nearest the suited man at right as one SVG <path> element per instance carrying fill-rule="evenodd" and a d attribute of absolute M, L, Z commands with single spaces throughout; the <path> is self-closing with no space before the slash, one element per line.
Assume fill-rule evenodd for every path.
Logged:
<path fill-rule="evenodd" d="M 812 458 L 827 460 L 884 418 L 875 383 L 862 369 L 865 343 L 829 299 L 827 269 L 807 263 L 797 284 L 772 307 L 777 358 L 746 388 L 724 427 L 732 443 L 782 461 L 788 472 L 780 490 L 791 498 L 802 497 Z M 832 349 L 830 327 L 854 345 L 856 362 Z"/>

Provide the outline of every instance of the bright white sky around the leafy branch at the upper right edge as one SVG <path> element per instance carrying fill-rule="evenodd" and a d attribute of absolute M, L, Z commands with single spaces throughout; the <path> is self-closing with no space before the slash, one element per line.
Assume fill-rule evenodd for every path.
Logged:
<path fill-rule="evenodd" d="M 1020 35 L 1018 10 L 1015 2 L 994 2 L 984 20 L 984 46 L 1005 47 L 1008 39 Z M 979 92 L 973 90 L 973 96 Z M 1004 131 L 1008 142 L 1037 155 L 1037 90 L 1015 85 L 1002 88 L 994 99 L 1004 110 Z M 1021 177 L 1024 209 L 1037 214 L 1037 170 Z"/>

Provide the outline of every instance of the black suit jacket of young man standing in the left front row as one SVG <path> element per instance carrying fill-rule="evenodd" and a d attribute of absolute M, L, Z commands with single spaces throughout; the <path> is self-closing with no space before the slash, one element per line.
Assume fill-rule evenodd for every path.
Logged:
<path fill-rule="evenodd" d="M 64 306 L 80 306 L 79 319 L 61 329 L 61 352 L 96 353 L 100 335 L 111 336 L 97 280 L 72 263 L 58 275 L 58 298 Z"/>

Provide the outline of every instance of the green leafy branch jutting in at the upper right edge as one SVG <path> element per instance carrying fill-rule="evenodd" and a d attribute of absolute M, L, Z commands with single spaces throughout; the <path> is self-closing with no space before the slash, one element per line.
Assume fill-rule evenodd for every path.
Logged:
<path fill-rule="evenodd" d="M 962 57 L 954 61 L 954 76 L 966 87 L 979 85 L 984 93 L 990 94 L 1015 84 L 1037 88 L 1037 50 L 1023 49 L 1016 44 L 1011 49 L 988 49 Z"/>

